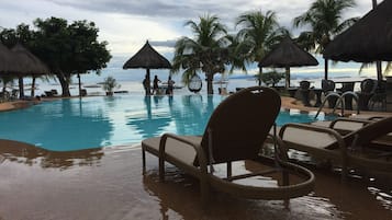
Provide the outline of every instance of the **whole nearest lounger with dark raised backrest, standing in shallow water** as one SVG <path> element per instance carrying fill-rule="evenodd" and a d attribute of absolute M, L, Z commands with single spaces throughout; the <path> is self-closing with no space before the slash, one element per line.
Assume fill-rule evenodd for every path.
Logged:
<path fill-rule="evenodd" d="M 271 164 L 262 163 L 269 167 L 267 171 L 233 175 L 232 162 L 261 160 L 259 152 L 280 112 L 280 96 L 272 89 L 243 89 L 227 96 L 215 108 L 203 136 L 165 134 L 161 137 L 143 140 L 143 167 L 145 170 L 147 151 L 159 158 L 161 181 L 165 178 L 165 162 L 199 178 L 203 204 L 208 201 L 210 187 L 245 198 L 288 199 L 306 195 L 313 190 L 314 175 L 302 166 L 287 162 L 283 146 L 277 146 L 275 161 Z M 272 139 L 283 144 L 278 138 Z M 226 177 L 215 175 L 214 166 L 221 167 L 225 163 Z M 275 177 L 281 176 L 281 173 L 284 180 L 279 180 L 278 186 L 275 187 L 239 183 L 244 178 L 271 177 L 272 174 L 279 174 L 273 175 Z M 303 177 L 303 181 L 288 182 L 288 173 L 291 177 Z"/>

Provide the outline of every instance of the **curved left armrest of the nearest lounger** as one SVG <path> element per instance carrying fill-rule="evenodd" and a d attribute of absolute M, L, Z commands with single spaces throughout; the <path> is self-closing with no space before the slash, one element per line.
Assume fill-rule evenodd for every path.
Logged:
<path fill-rule="evenodd" d="M 166 141 L 167 139 L 175 139 L 177 141 L 183 142 L 190 147 L 192 147 L 197 153 L 197 158 L 199 161 L 200 165 L 200 171 L 202 173 L 208 173 L 208 164 L 206 164 L 206 158 L 203 149 L 200 146 L 200 142 L 194 142 L 189 139 L 183 138 L 182 136 L 178 136 L 175 134 L 164 134 L 163 137 L 160 138 L 159 142 L 159 158 L 164 159 L 165 158 L 165 149 L 166 149 Z"/>

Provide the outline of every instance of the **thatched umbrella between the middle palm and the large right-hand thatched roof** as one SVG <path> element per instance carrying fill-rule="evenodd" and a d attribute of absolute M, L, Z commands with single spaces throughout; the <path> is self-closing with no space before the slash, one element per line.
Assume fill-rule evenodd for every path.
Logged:
<path fill-rule="evenodd" d="M 258 66 L 285 68 L 285 88 L 290 88 L 290 67 L 317 65 L 318 61 L 311 54 L 300 48 L 290 37 L 285 37 Z"/>

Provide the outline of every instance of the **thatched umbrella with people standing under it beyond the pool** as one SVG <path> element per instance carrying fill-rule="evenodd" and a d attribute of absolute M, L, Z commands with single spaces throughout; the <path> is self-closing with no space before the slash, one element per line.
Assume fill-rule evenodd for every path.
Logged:
<path fill-rule="evenodd" d="M 123 69 L 146 69 L 146 95 L 150 94 L 150 69 L 170 69 L 171 65 L 164 56 L 157 53 L 148 40 L 133 57 L 131 57 L 123 66 Z"/>

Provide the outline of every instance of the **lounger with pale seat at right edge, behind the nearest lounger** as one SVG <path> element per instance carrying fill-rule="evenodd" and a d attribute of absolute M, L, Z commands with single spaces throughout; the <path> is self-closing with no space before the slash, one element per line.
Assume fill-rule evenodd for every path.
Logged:
<path fill-rule="evenodd" d="M 356 126 L 359 127 L 358 129 L 346 127 L 346 130 L 332 129 L 336 128 L 338 123 L 344 121 L 346 125 L 354 125 L 357 121 Z M 287 124 L 279 130 L 279 137 L 289 149 L 304 151 L 313 157 L 339 163 L 343 177 L 345 177 L 350 167 L 366 173 L 391 175 L 391 132 L 392 117 L 385 117 L 371 121 L 339 119 L 333 123 L 332 127 Z"/>

